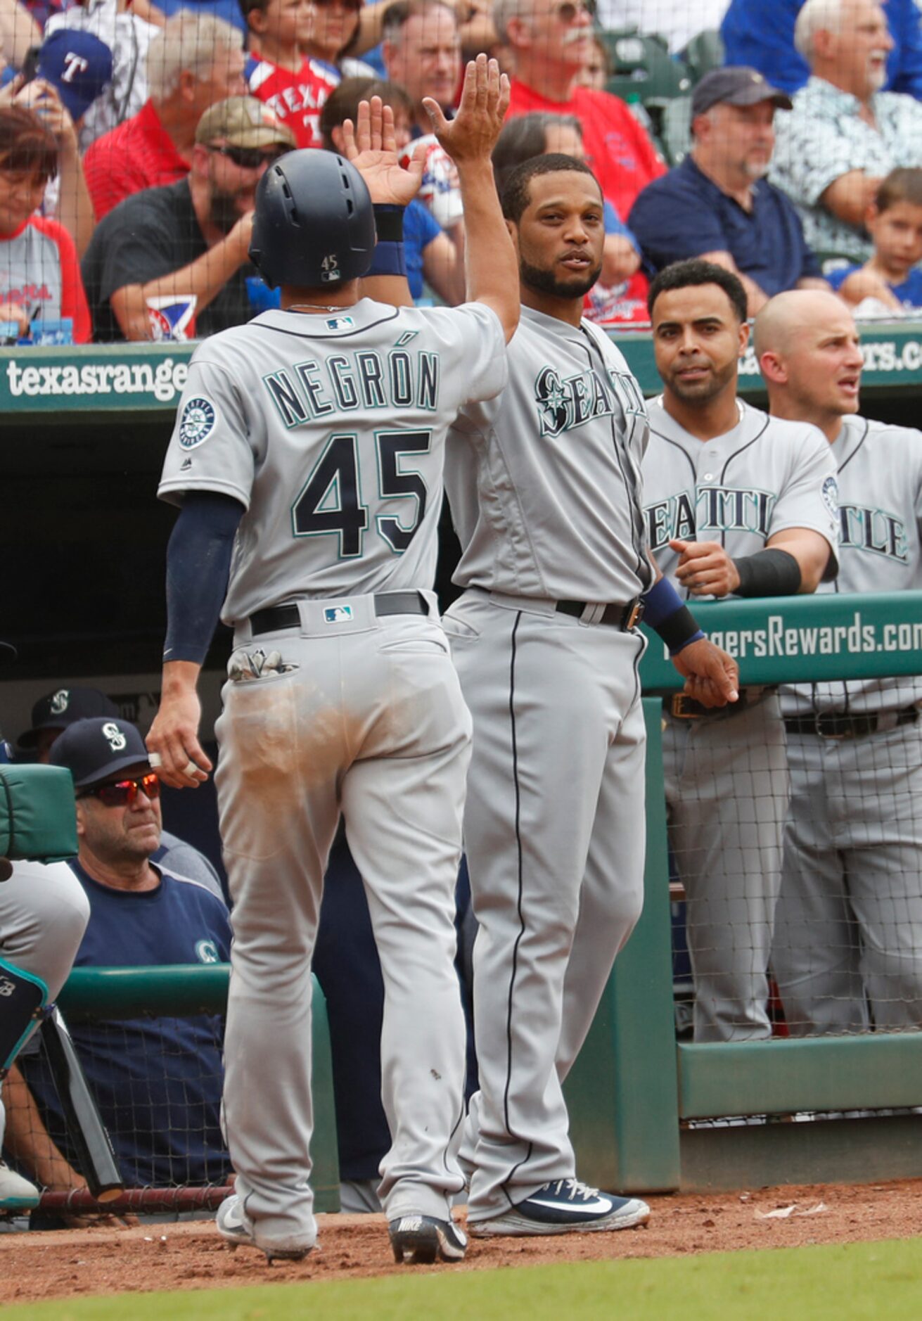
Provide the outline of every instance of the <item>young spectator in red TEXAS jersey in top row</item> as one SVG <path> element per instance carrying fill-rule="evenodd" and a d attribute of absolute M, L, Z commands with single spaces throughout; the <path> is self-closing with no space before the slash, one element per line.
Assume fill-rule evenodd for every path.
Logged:
<path fill-rule="evenodd" d="M 250 95 L 266 102 L 295 133 L 299 147 L 322 147 L 320 112 L 339 73 L 309 59 L 313 0 L 240 0 L 259 55 L 247 63 Z"/>

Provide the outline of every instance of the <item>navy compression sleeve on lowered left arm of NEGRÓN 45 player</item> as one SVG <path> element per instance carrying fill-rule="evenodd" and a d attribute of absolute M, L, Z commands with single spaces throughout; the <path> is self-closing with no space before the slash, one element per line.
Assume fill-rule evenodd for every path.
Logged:
<path fill-rule="evenodd" d="M 164 660 L 202 664 L 227 593 L 243 505 L 232 495 L 186 495 L 166 547 Z"/>

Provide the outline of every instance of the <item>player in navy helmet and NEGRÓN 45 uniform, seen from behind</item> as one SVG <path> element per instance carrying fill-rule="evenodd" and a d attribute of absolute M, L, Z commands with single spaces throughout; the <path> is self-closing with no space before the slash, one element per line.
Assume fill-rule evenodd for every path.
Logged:
<path fill-rule="evenodd" d="M 421 174 L 421 160 L 399 166 L 379 100 L 370 128 L 363 107 L 355 155 L 367 186 L 332 152 L 269 166 L 251 256 L 281 284 L 281 310 L 197 349 L 164 465 L 160 493 L 182 513 L 148 745 L 172 785 L 209 770 L 195 676 L 225 596 L 235 650 L 215 732 L 234 900 L 225 1120 L 238 1181 L 218 1227 L 267 1256 L 304 1256 L 316 1239 L 310 955 L 341 812 L 384 978 L 392 1147 L 379 1194 L 394 1254 L 457 1260 L 466 1246 L 449 1203 L 464 1186 L 452 1147 L 465 1066 L 453 917 L 470 719 L 431 585 L 445 433 L 460 407 L 502 388 L 518 321 L 490 174 L 507 98 L 483 55 L 468 66 L 457 118 L 437 116 L 465 205 L 472 301 L 457 309 L 359 299 L 375 221 L 370 273 L 399 277 L 392 203 Z M 384 207 L 374 217 L 372 202 Z M 202 502 L 222 511 L 203 536 Z"/>

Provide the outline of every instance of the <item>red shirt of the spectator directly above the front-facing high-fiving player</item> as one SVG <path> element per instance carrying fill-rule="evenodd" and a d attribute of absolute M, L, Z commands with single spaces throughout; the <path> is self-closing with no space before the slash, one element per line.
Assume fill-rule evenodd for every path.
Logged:
<path fill-rule="evenodd" d="M 569 100 L 548 100 L 518 78 L 511 79 L 509 114 L 576 115 L 583 124 L 586 165 L 602 185 L 618 215 L 627 215 L 634 198 L 666 165 L 642 125 L 618 96 L 590 87 L 575 87 Z"/>

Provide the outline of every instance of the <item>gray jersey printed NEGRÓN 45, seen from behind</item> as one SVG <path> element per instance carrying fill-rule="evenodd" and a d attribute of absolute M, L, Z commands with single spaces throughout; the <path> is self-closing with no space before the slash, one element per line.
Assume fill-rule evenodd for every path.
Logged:
<path fill-rule="evenodd" d="M 266 312 L 199 345 L 160 494 L 246 507 L 225 622 L 295 597 L 431 587 L 445 431 L 505 380 L 499 321 L 478 304 Z"/>

